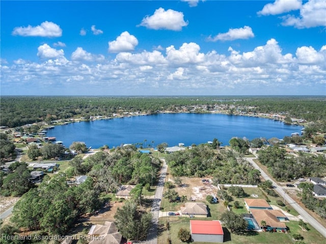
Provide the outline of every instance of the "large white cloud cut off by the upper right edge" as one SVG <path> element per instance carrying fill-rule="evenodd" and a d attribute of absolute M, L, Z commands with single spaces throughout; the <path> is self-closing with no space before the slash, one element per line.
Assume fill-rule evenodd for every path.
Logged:
<path fill-rule="evenodd" d="M 326 26 L 326 1 L 310 0 L 300 9 L 300 16 L 283 16 L 283 25 L 298 29 Z"/>

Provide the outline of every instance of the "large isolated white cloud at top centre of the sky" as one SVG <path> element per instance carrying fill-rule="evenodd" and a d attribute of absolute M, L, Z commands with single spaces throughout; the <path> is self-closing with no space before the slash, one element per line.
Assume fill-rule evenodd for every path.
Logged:
<path fill-rule="evenodd" d="M 165 9 L 159 8 L 153 15 L 144 17 L 140 25 L 154 30 L 181 31 L 183 26 L 188 25 L 188 22 L 184 21 L 182 12 L 172 9 L 165 11 Z"/>

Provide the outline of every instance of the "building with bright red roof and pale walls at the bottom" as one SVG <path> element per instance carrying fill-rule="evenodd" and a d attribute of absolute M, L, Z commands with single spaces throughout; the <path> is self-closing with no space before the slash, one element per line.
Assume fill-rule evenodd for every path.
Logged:
<path fill-rule="evenodd" d="M 190 232 L 193 241 L 223 242 L 224 232 L 220 221 L 191 220 Z"/>

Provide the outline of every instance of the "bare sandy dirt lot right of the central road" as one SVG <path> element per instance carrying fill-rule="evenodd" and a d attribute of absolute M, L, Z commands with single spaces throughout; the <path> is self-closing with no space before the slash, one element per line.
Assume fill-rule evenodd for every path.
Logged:
<path fill-rule="evenodd" d="M 212 184 L 204 184 L 202 182 L 203 178 L 180 177 L 180 179 L 182 181 L 182 186 L 175 187 L 174 189 L 179 194 L 179 196 L 186 196 L 188 200 L 205 200 L 207 195 L 216 195 L 218 191 L 218 187 Z M 168 180 L 173 182 L 172 177 Z"/>

